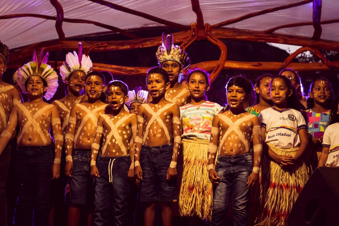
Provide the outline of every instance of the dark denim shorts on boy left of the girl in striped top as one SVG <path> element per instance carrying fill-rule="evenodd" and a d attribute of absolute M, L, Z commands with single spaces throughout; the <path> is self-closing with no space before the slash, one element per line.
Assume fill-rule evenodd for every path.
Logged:
<path fill-rule="evenodd" d="M 143 178 L 140 182 L 141 202 L 173 202 L 177 200 L 176 180 L 166 180 L 172 156 L 173 144 L 157 147 L 142 145 L 140 152 Z"/>

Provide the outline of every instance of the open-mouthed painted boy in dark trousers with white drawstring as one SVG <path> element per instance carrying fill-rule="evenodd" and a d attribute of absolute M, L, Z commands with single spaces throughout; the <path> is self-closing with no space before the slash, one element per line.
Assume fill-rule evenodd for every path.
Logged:
<path fill-rule="evenodd" d="M 95 178 L 94 224 L 127 225 L 128 178 L 134 178 L 134 149 L 129 148 L 137 132 L 137 116 L 124 110 L 128 88 L 112 81 L 107 88 L 110 114 L 99 116 L 91 155 L 91 176 Z M 146 96 L 147 97 L 147 96 Z M 101 148 L 100 148 L 101 146 Z M 98 157 L 99 156 L 99 157 Z M 96 162 L 98 157 L 98 162 Z"/>

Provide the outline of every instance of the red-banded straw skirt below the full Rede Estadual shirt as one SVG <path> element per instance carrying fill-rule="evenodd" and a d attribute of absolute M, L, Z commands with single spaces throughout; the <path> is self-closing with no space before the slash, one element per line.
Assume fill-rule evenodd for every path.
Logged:
<path fill-rule="evenodd" d="M 278 155 L 295 156 L 298 147 L 290 149 L 267 145 Z M 284 226 L 301 190 L 308 180 L 308 167 L 304 162 L 283 169 L 276 162 L 263 158 L 260 170 L 260 207 L 256 225 Z"/>

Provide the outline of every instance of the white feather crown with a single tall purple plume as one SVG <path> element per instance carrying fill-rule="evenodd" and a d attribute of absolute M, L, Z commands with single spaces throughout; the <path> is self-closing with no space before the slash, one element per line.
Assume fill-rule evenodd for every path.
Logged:
<path fill-rule="evenodd" d="M 60 67 L 60 75 L 62 81 L 65 81 L 65 78 L 68 78 L 74 71 L 83 71 L 85 75 L 92 71 L 93 63 L 89 56 L 82 54 L 82 45 L 81 42 L 78 43 L 78 53 L 73 52 L 66 55 L 66 60 Z"/>

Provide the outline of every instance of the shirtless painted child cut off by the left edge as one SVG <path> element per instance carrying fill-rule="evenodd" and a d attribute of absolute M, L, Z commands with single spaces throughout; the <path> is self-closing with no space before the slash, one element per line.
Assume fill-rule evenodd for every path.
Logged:
<path fill-rule="evenodd" d="M 9 49 L 8 46 L 0 42 L 0 133 L 7 125 L 9 114 L 14 105 L 21 103 L 21 96 L 18 90 L 2 79 L 3 73 L 7 69 Z M 15 136 L 12 137 L 12 141 Z M 7 224 L 7 200 L 6 183 L 11 161 L 12 145 L 11 141 L 5 147 L 0 156 L 0 225 Z"/>

